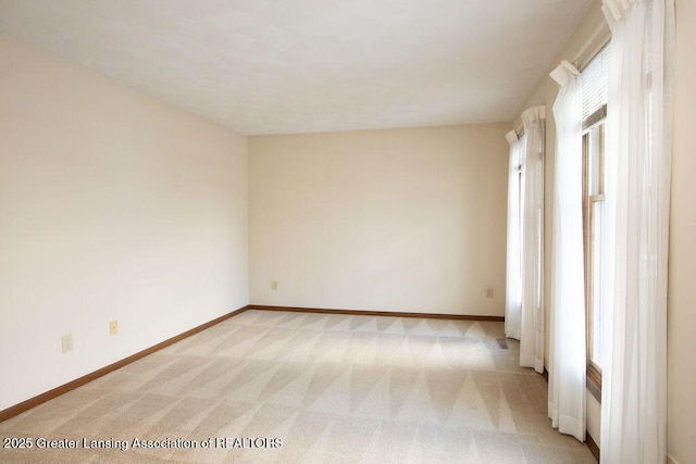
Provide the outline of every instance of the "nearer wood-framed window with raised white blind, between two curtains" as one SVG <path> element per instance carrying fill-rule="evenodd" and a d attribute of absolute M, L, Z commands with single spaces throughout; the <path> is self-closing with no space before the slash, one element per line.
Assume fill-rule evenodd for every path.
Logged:
<path fill-rule="evenodd" d="M 583 70 L 583 222 L 587 327 L 587 387 L 601 401 L 601 292 L 605 227 L 605 120 L 609 48 Z"/>

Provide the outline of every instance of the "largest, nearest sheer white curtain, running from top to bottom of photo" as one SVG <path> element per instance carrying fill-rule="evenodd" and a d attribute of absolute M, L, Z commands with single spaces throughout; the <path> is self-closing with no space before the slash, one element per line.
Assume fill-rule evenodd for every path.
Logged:
<path fill-rule="evenodd" d="M 606 123 L 602 463 L 667 456 L 667 252 L 673 0 L 604 0 Z"/>

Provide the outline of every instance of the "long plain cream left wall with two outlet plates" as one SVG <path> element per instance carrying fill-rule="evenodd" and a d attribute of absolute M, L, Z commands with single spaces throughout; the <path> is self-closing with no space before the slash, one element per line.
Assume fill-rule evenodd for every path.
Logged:
<path fill-rule="evenodd" d="M 246 305 L 248 166 L 88 68 L 1 36 L 0 63 L 2 410 Z"/>

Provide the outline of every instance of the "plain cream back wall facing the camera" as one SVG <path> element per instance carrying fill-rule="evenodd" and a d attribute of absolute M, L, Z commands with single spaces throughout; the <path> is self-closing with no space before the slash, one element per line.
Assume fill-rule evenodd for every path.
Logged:
<path fill-rule="evenodd" d="M 508 129 L 250 137 L 251 303 L 501 316 Z"/>

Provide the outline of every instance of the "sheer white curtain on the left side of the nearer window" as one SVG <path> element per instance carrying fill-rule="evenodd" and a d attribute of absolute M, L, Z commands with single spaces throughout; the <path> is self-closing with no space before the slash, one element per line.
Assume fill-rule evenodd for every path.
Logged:
<path fill-rule="evenodd" d="M 582 204 L 582 88 L 580 73 L 562 62 L 551 77 L 556 161 L 548 416 L 554 427 L 585 441 L 585 288 Z"/>

